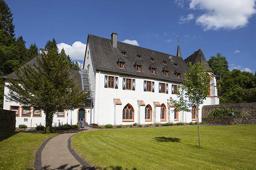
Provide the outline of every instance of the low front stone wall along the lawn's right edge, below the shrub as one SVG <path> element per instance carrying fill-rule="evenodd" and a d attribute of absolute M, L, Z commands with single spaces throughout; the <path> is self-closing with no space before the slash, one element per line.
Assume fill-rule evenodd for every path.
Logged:
<path fill-rule="evenodd" d="M 215 125 L 256 124 L 256 117 L 207 117 L 202 122 Z"/>

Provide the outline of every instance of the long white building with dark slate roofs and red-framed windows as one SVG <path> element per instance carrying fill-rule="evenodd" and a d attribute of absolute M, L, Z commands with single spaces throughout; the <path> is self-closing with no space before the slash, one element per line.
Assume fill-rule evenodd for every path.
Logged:
<path fill-rule="evenodd" d="M 40 57 L 40 56 L 39 56 Z M 35 59 L 30 61 L 35 62 Z M 177 55 L 170 55 L 117 41 L 88 35 L 84 65 L 78 75 L 81 87 L 91 91 L 88 101 L 74 111 L 58 112 L 53 125 L 76 124 L 81 116 L 86 122 L 99 125 L 153 124 L 166 122 L 192 122 L 195 115 L 174 111 L 167 99 L 177 97 L 175 89 L 181 84 L 184 73 L 189 71 L 188 62 L 209 65 L 201 49 L 183 60 L 178 45 Z M 7 77 L 15 77 L 9 74 Z M 8 83 L 8 82 L 6 82 Z M 218 105 L 216 79 L 203 105 Z M 82 90 L 82 89 L 81 89 Z M 5 88 L 5 94 L 8 89 Z M 198 111 L 201 122 L 201 105 Z M 4 99 L 3 109 L 15 110 L 16 126 L 25 124 L 35 127 L 45 124 L 45 115 L 39 108 L 20 106 Z"/>

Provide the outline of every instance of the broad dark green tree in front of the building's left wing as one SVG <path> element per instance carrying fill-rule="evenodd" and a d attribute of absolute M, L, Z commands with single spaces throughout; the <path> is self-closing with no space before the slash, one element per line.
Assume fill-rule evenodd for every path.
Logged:
<path fill-rule="evenodd" d="M 9 101 L 41 108 L 46 114 L 46 129 L 51 131 L 53 115 L 63 109 L 78 108 L 89 93 L 81 91 L 67 62 L 59 57 L 57 48 L 37 58 L 38 65 L 24 65 L 15 71 L 17 79 L 7 79 Z"/>

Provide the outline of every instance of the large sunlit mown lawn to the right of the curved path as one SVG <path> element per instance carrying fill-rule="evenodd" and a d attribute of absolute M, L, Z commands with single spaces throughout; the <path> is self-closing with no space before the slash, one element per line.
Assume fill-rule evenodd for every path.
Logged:
<path fill-rule="evenodd" d="M 111 170 L 256 169 L 256 125 L 200 126 L 200 134 L 198 147 L 197 126 L 96 130 L 75 135 L 72 146 Z"/>

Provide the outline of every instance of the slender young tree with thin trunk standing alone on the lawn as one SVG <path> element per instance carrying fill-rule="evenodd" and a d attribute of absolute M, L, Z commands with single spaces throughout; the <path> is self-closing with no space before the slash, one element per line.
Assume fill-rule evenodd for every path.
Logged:
<path fill-rule="evenodd" d="M 209 95 L 211 74 L 205 69 L 205 64 L 200 62 L 192 65 L 189 62 L 189 72 L 185 73 L 185 77 L 178 91 L 178 100 L 170 97 L 169 101 L 172 102 L 177 111 L 193 112 L 194 106 L 197 112 L 194 112 L 198 122 L 199 105 L 204 103 L 204 100 Z M 192 113 L 193 114 L 193 113 Z M 198 123 L 198 144 L 200 144 L 199 123 Z"/>

